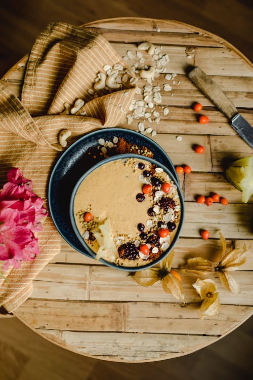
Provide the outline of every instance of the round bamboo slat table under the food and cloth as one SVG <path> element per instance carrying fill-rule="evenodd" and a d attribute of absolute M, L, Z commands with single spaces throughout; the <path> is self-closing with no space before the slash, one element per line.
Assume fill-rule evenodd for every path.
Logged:
<path fill-rule="evenodd" d="M 164 84 L 166 73 L 172 91 L 162 94 L 169 108 L 153 127 L 153 139 L 168 153 L 175 165 L 188 164 L 192 173 L 181 175 L 186 215 L 184 228 L 175 248 L 173 268 L 186 259 L 202 256 L 216 261 L 221 252 L 218 230 L 222 230 L 228 249 L 248 249 L 247 261 L 233 272 L 240 293 L 225 290 L 218 277 L 221 309 L 217 316 L 199 319 L 200 298 L 192 284 L 197 276 L 182 275 L 185 302 L 162 290 L 161 284 L 141 287 L 125 272 L 114 270 L 72 249 L 62 241 L 61 252 L 33 282 L 32 296 L 15 311 L 15 316 L 53 343 L 76 353 L 121 362 L 147 362 L 174 358 L 199 350 L 222 338 L 252 315 L 253 235 L 252 200 L 242 204 L 241 193 L 225 178 L 224 163 L 252 155 L 251 148 L 234 132 L 220 111 L 193 86 L 186 67 L 199 66 L 217 82 L 249 123 L 253 123 L 252 65 L 237 49 L 220 37 L 191 25 L 170 20 L 117 18 L 100 20 L 89 26 L 102 33 L 121 56 L 134 54 L 137 46 L 149 41 L 162 47 L 170 62 L 155 85 Z M 145 52 L 143 52 L 145 54 Z M 146 58 L 147 58 L 146 54 Z M 130 55 L 131 57 L 131 55 Z M 27 56 L 5 75 L 3 81 L 18 96 Z M 153 85 L 154 85 L 153 84 Z M 137 83 L 142 87 L 144 83 Z M 141 99 L 142 95 L 138 95 Z M 204 106 L 210 122 L 197 123 L 194 102 Z M 140 120 L 121 127 L 137 129 Z M 182 140 L 176 137 L 180 135 Z M 197 155 L 192 146 L 205 146 Z M 198 194 L 218 192 L 229 201 L 212 207 L 199 205 Z M 208 229 L 203 241 L 199 231 Z"/>

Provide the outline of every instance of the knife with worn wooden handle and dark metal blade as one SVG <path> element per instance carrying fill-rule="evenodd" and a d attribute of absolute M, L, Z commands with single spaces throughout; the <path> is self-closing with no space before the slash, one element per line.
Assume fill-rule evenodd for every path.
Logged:
<path fill-rule="evenodd" d="M 224 113 L 234 130 L 253 148 L 253 127 L 240 115 L 220 87 L 199 67 L 194 67 L 188 77 Z"/>

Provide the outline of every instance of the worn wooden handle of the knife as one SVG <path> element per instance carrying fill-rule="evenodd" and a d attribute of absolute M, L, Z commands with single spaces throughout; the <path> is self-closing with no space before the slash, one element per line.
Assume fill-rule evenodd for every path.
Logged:
<path fill-rule="evenodd" d="M 227 98 L 219 86 L 206 75 L 199 67 L 194 67 L 189 73 L 190 80 L 224 113 L 231 119 L 238 113 L 234 104 Z"/>

